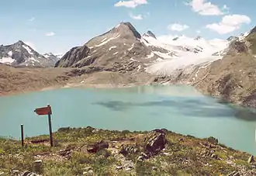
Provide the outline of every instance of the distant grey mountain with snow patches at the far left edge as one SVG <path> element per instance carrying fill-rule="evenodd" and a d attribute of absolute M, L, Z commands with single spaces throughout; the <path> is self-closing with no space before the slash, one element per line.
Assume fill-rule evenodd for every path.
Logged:
<path fill-rule="evenodd" d="M 0 46 L 0 63 L 12 66 L 52 67 L 55 58 L 44 57 L 21 40 L 12 45 Z"/>

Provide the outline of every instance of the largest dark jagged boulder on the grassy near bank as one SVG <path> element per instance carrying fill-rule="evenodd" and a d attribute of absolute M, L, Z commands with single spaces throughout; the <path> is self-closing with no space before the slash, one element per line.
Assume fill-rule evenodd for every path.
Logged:
<path fill-rule="evenodd" d="M 167 140 L 165 139 L 165 132 L 161 129 L 155 129 L 151 132 L 146 141 L 145 150 L 150 155 L 157 154 L 163 150 L 165 143 L 167 143 Z"/>

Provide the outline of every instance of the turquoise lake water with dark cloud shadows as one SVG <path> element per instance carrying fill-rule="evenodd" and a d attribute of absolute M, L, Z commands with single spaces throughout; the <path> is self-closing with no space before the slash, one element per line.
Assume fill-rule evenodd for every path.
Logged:
<path fill-rule="evenodd" d="M 166 128 L 197 137 L 214 136 L 229 147 L 256 154 L 256 115 L 248 109 L 201 95 L 184 85 L 116 89 L 67 88 L 0 97 L 0 136 L 19 139 L 48 133 L 47 116 L 33 110 L 50 104 L 53 129 Z"/>

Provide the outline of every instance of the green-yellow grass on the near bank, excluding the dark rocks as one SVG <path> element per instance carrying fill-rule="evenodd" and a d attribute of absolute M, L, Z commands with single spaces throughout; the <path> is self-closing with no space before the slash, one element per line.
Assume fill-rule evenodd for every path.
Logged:
<path fill-rule="evenodd" d="M 214 141 L 212 138 L 197 139 L 194 136 L 182 136 L 172 132 L 167 132 L 168 143 L 165 145 L 164 151 L 147 160 L 139 161 L 137 157 L 145 150 L 147 140 L 144 139 L 150 136 L 148 134 L 149 132 L 129 132 L 127 130 L 95 130 L 92 127 L 61 128 L 54 133 L 55 147 L 49 147 L 46 145 L 47 143 L 28 143 L 24 148 L 21 147 L 20 141 L 0 138 L 0 172 L 9 175 L 10 171 L 17 169 L 20 172 L 33 171 L 54 176 L 82 175 L 90 170 L 95 175 L 220 175 L 239 171 L 240 167 L 251 169 L 247 164 L 249 154 L 219 144 L 207 149 L 203 143 L 209 143 L 209 139 Z M 136 140 L 129 140 L 131 137 Z M 42 139 L 48 139 L 48 136 L 26 138 L 26 143 Z M 123 147 L 130 147 L 137 151 L 129 152 L 125 156 L 113 154 L 110 149 L 89 154 L 86 146 L 99 140 L 109 141 L 109 147 L 115 147 L 119 151 Z M 67 148 L 72 149 L 71 157 L 59 155 L 60 150 Z M 216 160 L 209 156 L 202 157 L 202 150 L 214 150 L 214 154 L 222 160 Z M 37 155 L 40 155 L 43 160 L 43 167 L 40 171 L 35 171 L 34 167 Z M 234 157 L 237 167 L 227 164 L 226 160 L 230 156 Z M 134 164 L 134 168 L 131 168 L 130 171 L 116 169 L 117 166 L 122 165 L 121 160 L 129 160 Z"/>

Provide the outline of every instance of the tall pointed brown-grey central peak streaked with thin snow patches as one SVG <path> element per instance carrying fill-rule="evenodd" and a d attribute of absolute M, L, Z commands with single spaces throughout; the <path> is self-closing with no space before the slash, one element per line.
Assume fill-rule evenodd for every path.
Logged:
<path fill-rule="evenodd" d="M 55 67 L 97 67 L 102 71 L 143 71 L 144 64 L 157 57 L 140 42 L 140 33 L 122 22 L 107 33 L 96 36 L 83 47 L 74 47 Z"/>

